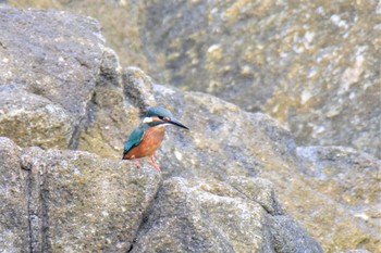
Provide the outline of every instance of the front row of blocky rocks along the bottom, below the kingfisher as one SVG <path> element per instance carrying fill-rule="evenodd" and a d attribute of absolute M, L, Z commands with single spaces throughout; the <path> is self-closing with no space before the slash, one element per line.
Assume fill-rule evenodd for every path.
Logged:
<path fill-rule="evenodd" d="M 0 147 L 5 252 L 322 252 L 265 179 L 171 178 L 151 204 L 152 168 L 7 138 Z"/>

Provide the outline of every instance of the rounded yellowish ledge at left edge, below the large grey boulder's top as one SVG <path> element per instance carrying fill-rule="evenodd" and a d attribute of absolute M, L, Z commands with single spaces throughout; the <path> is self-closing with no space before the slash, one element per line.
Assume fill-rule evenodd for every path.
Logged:
<path fill-rule="evenodd" d="M 0 85 L 0 135 L 19 146 L 67 148 L 74 123 L 65 110 L 14 85 Z"/>

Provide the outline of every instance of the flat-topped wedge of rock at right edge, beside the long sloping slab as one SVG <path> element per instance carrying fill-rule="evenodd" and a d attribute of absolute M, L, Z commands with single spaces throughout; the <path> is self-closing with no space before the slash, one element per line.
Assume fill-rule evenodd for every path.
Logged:
<path fill-rule="evenodd" d="M 381 222 L 381 161 L 341 147 L 299 147 L 310 161 L 306 174 L 336 202 L 367 223 Z"/>

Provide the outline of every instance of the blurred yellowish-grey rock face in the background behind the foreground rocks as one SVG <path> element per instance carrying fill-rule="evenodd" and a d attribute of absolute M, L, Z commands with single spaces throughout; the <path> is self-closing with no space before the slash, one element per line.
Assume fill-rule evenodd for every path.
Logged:
<path fill-rule="evenodd" d="M 381 157 L 377 1 L 33 4 L 96 16 L 123 65 L 266 112 L 299 144 L 348 146 Z"/>

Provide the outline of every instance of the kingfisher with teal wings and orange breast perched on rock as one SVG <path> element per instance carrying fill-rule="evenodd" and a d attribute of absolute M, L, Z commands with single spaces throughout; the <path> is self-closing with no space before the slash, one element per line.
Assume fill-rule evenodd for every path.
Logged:
<path fill-rule="evenodd" d="M 156 163 L 153 154 L 164 138 L 165 126 L 169 125 L 189 130 L 188 127 L 175 119 L 167 109 L 148 107 L 143 123 L 131 132 L 124 143 L 122 160 L 134 160 L 135 164 L 140 166 L 137 159 L 148 156 L 152 166 L 160 172 L 160 166 Z"/>

